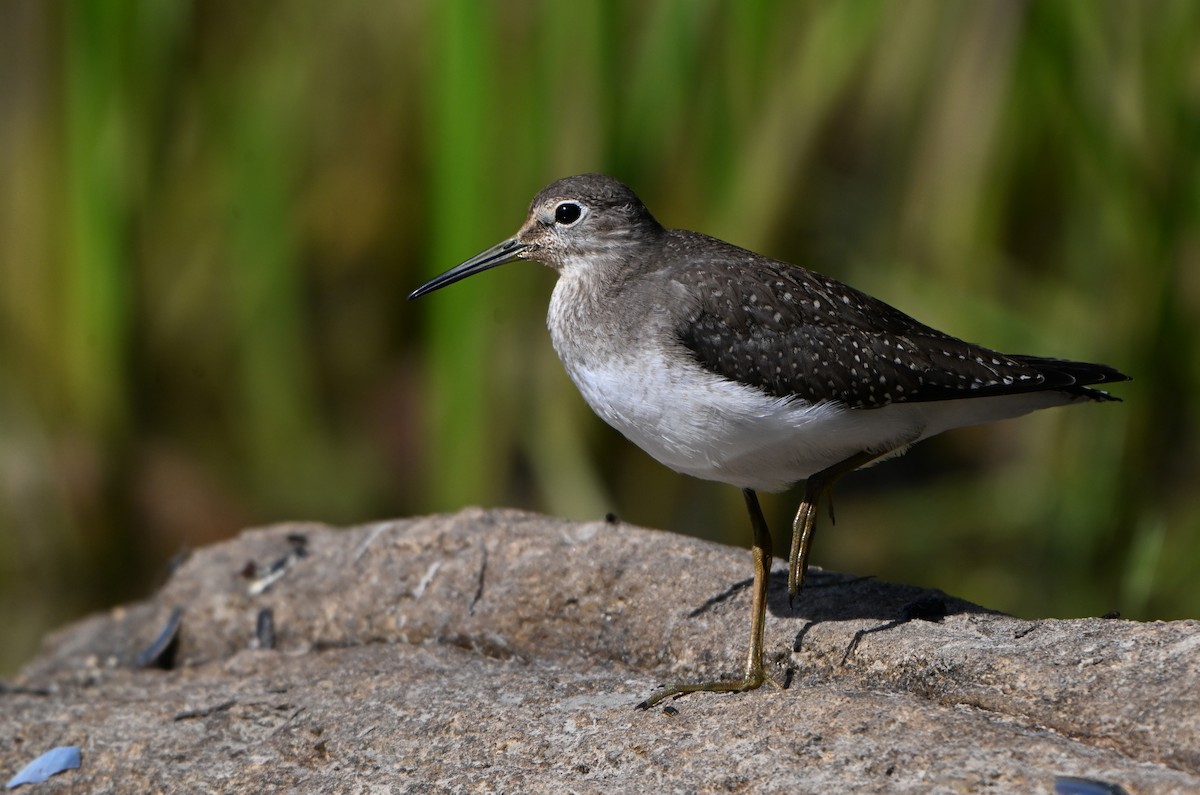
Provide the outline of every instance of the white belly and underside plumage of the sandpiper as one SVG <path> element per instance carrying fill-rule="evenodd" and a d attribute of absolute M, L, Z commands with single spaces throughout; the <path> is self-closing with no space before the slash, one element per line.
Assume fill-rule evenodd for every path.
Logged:
<path fill-rule="evenodd" d="M 756 491 L 782 491 L 863 450 L 899 454 L 953 428 L 1073 400 L 1048 391 L 858 410 L 773 398 L 698 364 L 684 381 L 679 359 L 668 367 L 653 346 L 599 366 L 564 364 L 592 410 L 664 466 Z"/>

